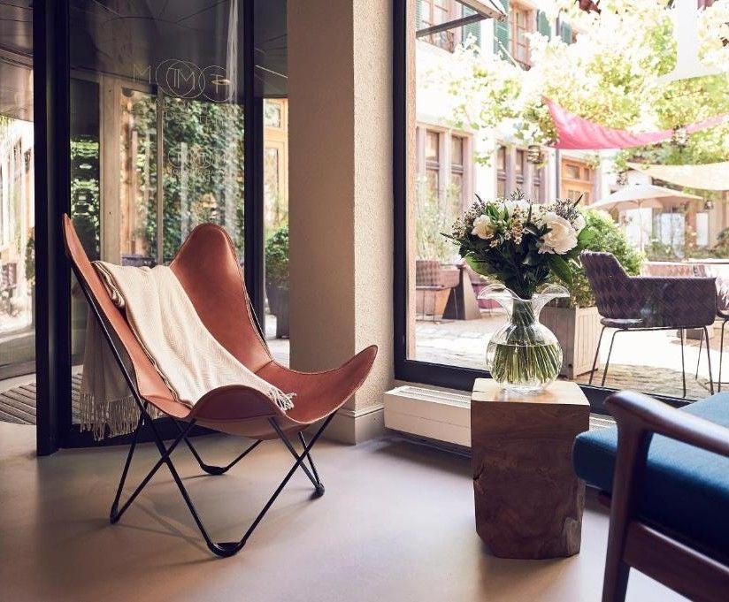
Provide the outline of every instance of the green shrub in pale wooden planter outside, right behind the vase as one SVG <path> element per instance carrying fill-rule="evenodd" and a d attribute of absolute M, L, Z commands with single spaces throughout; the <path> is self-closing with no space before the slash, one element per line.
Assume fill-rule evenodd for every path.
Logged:
<path fill-rule="evenodd" d="M 585 248 L 612 253 L 628 274 L 637 275 L 645 255 L 630 244 L 618 224 L 602 211 L 587 210 L 585 219 L 593 232 Z M 558 299 L 541 312 L 541 322 L 555 333 L 562 346 L 564 355 L 560 374 L 568 378 L 577 377 L 592 368 L 602 328 L 600 314 L 595 307 L 595 294 L 585 271 L 577 265 L 572 265 L 571 270 L 572 283 L 564 282 L 569 298 Z"/>

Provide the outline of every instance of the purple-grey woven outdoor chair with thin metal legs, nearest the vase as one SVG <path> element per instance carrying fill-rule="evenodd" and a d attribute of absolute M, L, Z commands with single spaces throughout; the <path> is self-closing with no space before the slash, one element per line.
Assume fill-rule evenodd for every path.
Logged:
<path fill-rule="evenodd" d="M 606 328 L 614 328 L 615 331 L 610 339 L 610 350 L 602 371 L 602 386 L 605 385 L 610 355 L 618 332 L 678 330 L 681 339 L 683 396 L 686 397 L 685 331 L 702 329 L 703 336 L 708 340 L 707 326 L 714 323 L 717 305 L 715 278 L 628 276 L 611 253 L 585 251 L 580 259 L 595 293 L 602 324 L 590 372 L 590 385 L 595 376 L 602 334 Z M 713 393 L 708 347 L 707 358 L 710 389 Z"/>

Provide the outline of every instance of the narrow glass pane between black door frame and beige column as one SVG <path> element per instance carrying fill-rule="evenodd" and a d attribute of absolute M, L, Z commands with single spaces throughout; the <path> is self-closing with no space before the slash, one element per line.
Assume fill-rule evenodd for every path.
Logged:
<path fill-rule="evenodd" d="M 264 127 L 265 338 L 288 366 L 288 101 L 265 101 L 271 106 L 277 118 Z"/>

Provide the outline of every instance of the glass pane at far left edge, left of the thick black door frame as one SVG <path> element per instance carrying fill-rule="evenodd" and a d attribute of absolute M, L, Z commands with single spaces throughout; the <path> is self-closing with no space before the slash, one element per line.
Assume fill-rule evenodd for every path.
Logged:
<path fill-rule="evenodd" d="M 32 22 L 30 2 L 0 2 L 0 379 L 28 375 L 28 382 L 35 372 Z M 35 400 L 0 404 L 0 420 L 35 423 Z"/>

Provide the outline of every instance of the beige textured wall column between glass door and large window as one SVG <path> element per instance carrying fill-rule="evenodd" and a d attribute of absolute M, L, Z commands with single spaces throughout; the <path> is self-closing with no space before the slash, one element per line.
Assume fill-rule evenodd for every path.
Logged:
<path fill-rule="evenodd" d="M 382 430 L 393 379 L 392 7 L 288 2 L 291 366 L 380 353 L 330 437 Z"/>

